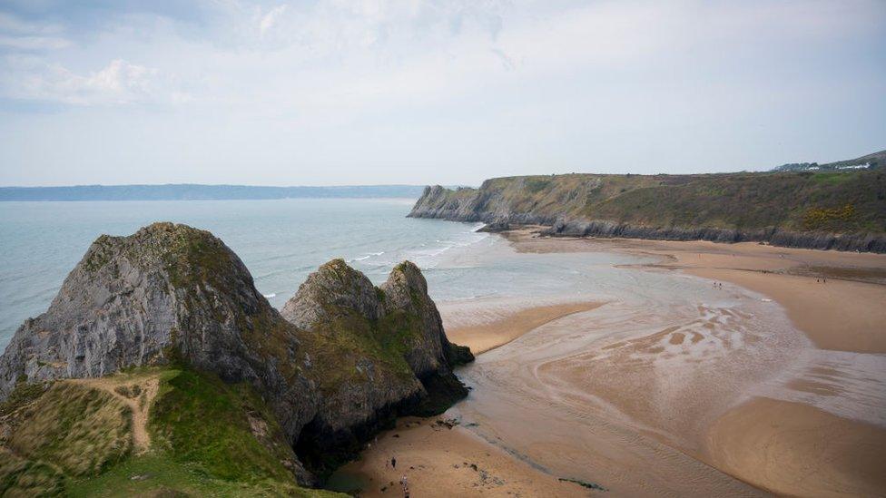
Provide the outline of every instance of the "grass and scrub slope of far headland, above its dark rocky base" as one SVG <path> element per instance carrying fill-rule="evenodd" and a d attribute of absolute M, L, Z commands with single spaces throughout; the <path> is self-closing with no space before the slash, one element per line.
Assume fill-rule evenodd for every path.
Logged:
<path fill-rule="evenodd" d="M 886 172 L 569 174 L 484 183 L 512 213 L 651 227 L 886 231 Z M 450 190 L 447 200 L 476 190 Z M 492 210 L 490 203 L 486 210 Z"/>

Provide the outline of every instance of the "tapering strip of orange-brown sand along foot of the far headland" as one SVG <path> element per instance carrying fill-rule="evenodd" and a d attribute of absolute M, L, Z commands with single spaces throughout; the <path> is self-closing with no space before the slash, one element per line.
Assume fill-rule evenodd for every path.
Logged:
<path fill-rule="evenodd" d="M 732 282 L 777 301 L 822 349 L 886 353 L 886 255 L 789 249 L 756 243 L 508 236 L 517 250 L 616 250 L 662 258 L 651 268 L 684 269 Z M 816 281 L 820 280 L 820 281 Z M 821 280 L 826 280 L 822 283 Z"/>

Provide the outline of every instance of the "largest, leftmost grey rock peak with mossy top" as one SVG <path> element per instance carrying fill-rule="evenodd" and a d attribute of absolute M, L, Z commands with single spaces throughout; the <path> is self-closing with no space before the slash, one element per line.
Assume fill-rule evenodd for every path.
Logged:
<path fill-rule="evenodd" d="M 49 309 L 26 320 L 0 357 L 0 395 L 19 376 L 103 376 L 171 356 L 223 378 L 272 383 L 281 373 L 264 365 L 254 346 L 297 346 L 293 329 L 221 240 L 157 223 L 129 237 L 95 240 Z"/>

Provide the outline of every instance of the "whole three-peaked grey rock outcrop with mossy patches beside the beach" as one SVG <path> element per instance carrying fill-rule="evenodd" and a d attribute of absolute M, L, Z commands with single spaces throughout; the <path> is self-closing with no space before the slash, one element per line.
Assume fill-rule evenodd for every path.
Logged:
<path fill-rule="evenodd" d="M 404 262 L 375 288 L 340 259 L 312 274 L 281 315 L 220 239 L 155 223 L 102 236 L 49 309 L 0 356 L 0 400 L 22 383 L 182 366 L 245 382 L 314 483 L 397 415 L 430 413 L 467 394 L 427 284 Z M 442 387 L 441 387 L 442 386 Z"/>

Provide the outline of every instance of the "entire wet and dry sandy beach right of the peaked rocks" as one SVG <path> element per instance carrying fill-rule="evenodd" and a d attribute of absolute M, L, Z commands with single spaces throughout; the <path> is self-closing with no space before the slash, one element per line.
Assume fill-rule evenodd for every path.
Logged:
<path fill-rule="evenodd" d="M 507 239 L 522 253 L 642 257 L 625 278 L 665 294 L 448 327 L 482 353 L 459 373 L 472 394 L 444 416 L 461 425 L 411 421 L 348 472 L 381 483 L 389 455 L 408 454 L 425 475 L 409 477 L 415 496 L 541 496 L 559 478 L 598 488 L 555 495 L 886 494 L 886 256 L 531 229 Z M 662 296 L 682 300 L 656 308 Z M 458 307 L 441 312 L 464 323 Z M 507 485 L 484 487 L 458 459 Z"/>

